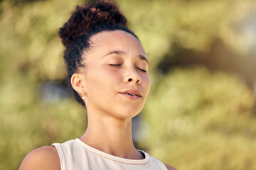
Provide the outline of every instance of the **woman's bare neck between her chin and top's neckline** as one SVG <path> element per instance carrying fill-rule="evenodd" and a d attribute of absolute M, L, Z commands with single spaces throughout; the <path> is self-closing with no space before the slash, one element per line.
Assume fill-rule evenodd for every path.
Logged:
<path fill-rule="evenodd" d="M 80 140 L 107 154 L 126 159 L 143 159 L 132 142 L 132 118 L 124 120 L 88 114 L 87 130 Z"/>

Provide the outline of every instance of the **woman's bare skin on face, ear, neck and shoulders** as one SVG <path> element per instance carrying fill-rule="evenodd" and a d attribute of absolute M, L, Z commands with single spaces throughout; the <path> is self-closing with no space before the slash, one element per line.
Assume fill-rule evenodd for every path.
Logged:
<path fill-rule="evenodd" d="M 87 130 L 80 140 L 117 157 L 144 159 L 132 142 L 132 118 L 142 111 L 151 85 L 146 53 L 133 35 L 122 30 L 97 33 L 90 43 L 92 48 L 83 56 L 85 67 L 71 79 L 87 107 Z M 141 97 L 132 100 L 120 94 L 131 89 Z M 58 152 L 48 146 L 35 149 L 20 169 L 60 169 Z"/>

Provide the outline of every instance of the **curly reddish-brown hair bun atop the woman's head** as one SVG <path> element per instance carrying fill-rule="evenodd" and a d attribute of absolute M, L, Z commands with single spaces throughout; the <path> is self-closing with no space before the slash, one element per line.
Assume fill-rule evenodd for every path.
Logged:
<path fill-rule="evenodd" d="M 112 1 L 100 0 L 84 6 L 76 6 L 68 22 L 59 30 L 63 45 L 70 44 L 93 28 L 103 25 L 127 26 L 127 19 Z"/>

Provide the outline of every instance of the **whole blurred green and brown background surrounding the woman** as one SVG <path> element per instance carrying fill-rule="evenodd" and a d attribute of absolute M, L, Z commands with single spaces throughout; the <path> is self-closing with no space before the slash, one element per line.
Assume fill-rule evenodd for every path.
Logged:
<path fill-rule="evenodd" d="M 58 28 L 79 0 L 0 1 L 0 169 L 80 137 Z M 256 1 L 118 0 L 148 53 L 139 148 L 177 169 L 256 169 Z"/>

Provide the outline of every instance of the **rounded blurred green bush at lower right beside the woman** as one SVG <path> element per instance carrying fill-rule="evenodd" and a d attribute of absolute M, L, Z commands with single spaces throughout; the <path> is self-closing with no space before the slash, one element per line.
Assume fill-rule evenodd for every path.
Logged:
<path fill-rule="evenodd" d="M 176 69 L 154 88 L 144 108 L 151 154 L 179 169 L 256 168 L 255 98 L 236 77 Z"/>

